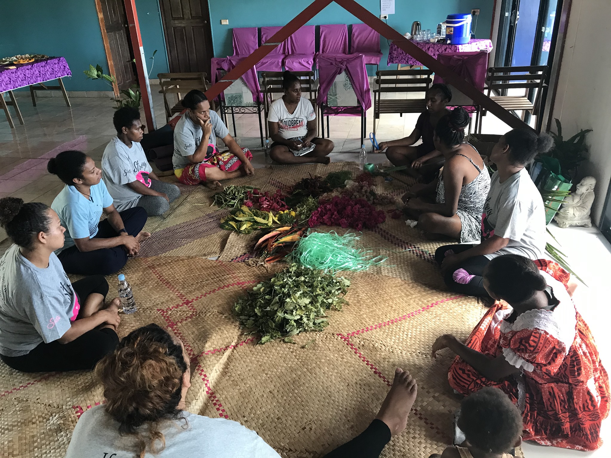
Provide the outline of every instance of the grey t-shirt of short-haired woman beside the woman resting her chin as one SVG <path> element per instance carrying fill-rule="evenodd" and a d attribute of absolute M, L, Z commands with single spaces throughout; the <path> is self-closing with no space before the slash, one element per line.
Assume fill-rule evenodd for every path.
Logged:
<path fill-rule="evenodd" d="M 142 194 L 127 184 L 138 180 L 144 186 L 151 187 L 148 174 L 152 171 L 147 155 L 138 142 L 131 142 L 131 148 L 128 148 L 119 137 L 114 137 L 106 145 L 102 155 L 102 178 L 117 211 L 138 205 Z"/>

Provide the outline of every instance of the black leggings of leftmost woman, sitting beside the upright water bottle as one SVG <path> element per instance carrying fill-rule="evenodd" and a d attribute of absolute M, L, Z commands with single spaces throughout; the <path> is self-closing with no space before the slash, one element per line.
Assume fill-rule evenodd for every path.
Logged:
<path fill-rule="evenodd" d="M 102 275 L 78 280 L 72 283 L 72 287 L 81 305 L 89 294 L 98 293 L 104 297 L 108 294 L 108 283 Z M 57 340 L 43 342 L 27 355 L 13 357 L 0 355 L 0 358 L 13 369 L 23 372 L 90 370 L 106 354 L 114 351 L 118 343 L 119 336 L 114 330 L 92 329 L 65 344 L 60 344 Z"/>

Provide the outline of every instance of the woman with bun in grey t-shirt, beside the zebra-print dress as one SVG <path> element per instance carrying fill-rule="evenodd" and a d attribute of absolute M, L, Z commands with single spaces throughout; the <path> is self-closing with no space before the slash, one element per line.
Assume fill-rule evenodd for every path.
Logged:
<path fill-rule="evenodd" d="M 497 166 L 481 216 L 481 243 L 445 245 L 435 252 L 445 284 L 467 296 L 489 297 L 483 273 L 496 256 L 516 254 L 536 260 L 546 243 L 543 198 L 525 165 L 553 146 L 549 135 L 513 129 L 500 137 L 490 154 Z"/>

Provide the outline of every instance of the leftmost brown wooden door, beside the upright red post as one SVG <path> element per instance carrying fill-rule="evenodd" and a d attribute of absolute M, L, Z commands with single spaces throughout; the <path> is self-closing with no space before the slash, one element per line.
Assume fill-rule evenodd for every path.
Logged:
<path fill-rule="evenodd" d="M 125 6 L 123 0 L 101 0 L 101 6 L 117 85 L 119 89 L 127 89 L 136 84 L 136 72 Z"/>

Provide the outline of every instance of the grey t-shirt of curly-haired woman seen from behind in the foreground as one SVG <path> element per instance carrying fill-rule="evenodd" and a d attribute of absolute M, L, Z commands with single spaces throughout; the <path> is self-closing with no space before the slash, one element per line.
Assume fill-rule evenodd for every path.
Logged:
<path fill-rule="evenodd" d="M 169 420 L 159 426 L 166 446 L 147 458 L 280 458 L 257 433 L 225 418 L 208 418 L 185 412 L 184 420 Z M 119 434 L 117 423 L 104 405 L 81 415 L 72 433 L 66 458 L 133 457 L 136 438 Z M 157 443 L 159 445 L 159 443 Z"/>

